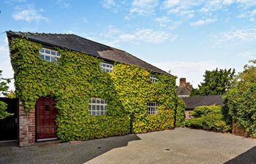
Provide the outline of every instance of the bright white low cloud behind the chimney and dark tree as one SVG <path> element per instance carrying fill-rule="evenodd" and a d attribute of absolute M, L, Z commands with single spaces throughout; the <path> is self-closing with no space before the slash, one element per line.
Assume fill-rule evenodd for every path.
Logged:
<path fill-rule="evenodd" d="M 177 76 L 176 85 L 178 85 L 179 78 L 186 77 L 187 82 L 190 82 L 193 87 L 203 82 L 203 74 L 206 70 L 214 70 L 217 67 L 224 69 L 223 66 L 212 61 L 166 61 L 152 64 Z"/>

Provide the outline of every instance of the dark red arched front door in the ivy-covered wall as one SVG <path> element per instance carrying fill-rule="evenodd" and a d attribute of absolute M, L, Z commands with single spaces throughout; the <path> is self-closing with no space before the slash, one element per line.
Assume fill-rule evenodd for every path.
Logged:
<path fill-rule="evenodd" d="M 57 138 L 56 108 L 53 98 L 39 98 L 37 101 L 37 140 Z"/>

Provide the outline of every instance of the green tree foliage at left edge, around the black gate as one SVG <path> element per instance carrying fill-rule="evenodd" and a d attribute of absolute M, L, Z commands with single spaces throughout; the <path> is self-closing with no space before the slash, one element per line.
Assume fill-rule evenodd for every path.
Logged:
<path fill-rule="evenodd" d="M 0 70 L 0 95 L 7 95 L 8 93 L 8 83 L 10 83 L 10 79 L 4 79 L 1 77 L 1 70 Z M 10 114 L 6 112 L 5 110 L 7 109 L 7 104 L 4 102 L 0 101 L 0 120 L 12 116 L 13 114 Z"/>

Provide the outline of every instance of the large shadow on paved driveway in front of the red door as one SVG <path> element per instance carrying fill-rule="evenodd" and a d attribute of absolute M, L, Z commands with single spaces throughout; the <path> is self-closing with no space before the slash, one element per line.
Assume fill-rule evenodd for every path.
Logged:
<path fill-rule="evenodd" d="M 126 147 L 129 141 L 136 140 L 140 138 L 126 135 L 83 141 L 81 144 L 63 143 L 22 148 L 15 143 L 1 143 L 0 163 L 86 163 L 111 149 Z"/>

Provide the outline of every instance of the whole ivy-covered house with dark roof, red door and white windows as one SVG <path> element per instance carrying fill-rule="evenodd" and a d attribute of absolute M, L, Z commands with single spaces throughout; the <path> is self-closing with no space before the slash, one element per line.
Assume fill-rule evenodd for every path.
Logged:
<path fill-rule="evenodd" d="M 174 128 L 173 75 L 75 34 L 8 31 L 7 37 L 20 147 L 124 135 L 131 113 L 133 133 Z"/>

